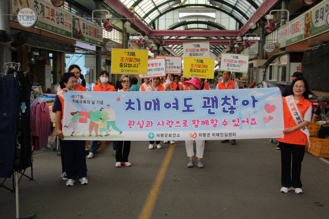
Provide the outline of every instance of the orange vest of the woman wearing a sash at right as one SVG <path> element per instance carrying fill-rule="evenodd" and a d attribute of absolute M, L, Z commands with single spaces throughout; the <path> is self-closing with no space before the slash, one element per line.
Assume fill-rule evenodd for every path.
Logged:
<path fill-rule="evenodd" d="M 292 118 L 289 108 L 286 104 L 285 97 L 282 97 L 283 101 L 283 117 L 284 117 L 284 128 L 291 128 L 296 126 L 294 119 Z M 312 105 L 311 102 L 304 99 L 302 97 L 298 103 L 296 103 L 298 110 L 304 118 L 305 112 L 308 108 Z M 295 144 L 295 145 L 306 145 L 307 144 L 307 137 L 304 133 L 302 133 L 299 129 L 293 132 L 285 133 L 283 138 L 277 138 L 276 141 L 288 143 L 288 144 Z"/>

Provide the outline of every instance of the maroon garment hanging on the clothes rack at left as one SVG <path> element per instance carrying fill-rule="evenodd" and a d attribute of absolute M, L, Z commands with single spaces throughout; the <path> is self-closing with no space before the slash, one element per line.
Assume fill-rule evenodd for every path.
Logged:
<path fill-rule="evenodd" d="M 35 115 L 35 136 L 38 137 L 38 145 L 35 145 L 34 150 L 47 147 L 50 134 L 49 107 L 45 102 L 41 102 Z"/>

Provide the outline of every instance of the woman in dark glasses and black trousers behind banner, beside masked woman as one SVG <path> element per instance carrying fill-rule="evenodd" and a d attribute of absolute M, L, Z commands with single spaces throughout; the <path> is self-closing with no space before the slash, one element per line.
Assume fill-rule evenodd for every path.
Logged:
<path fill-rule="evenodd" d="M 129 77 L 127 74 L 122 74 L 122 76 L 119 79 L 119 82 L 122 86 L 121 90 L 118 90 L 119 92 L 124 91 L 130 91 L 131 86 L 131 77 Z M 122 132 L 120 132 L 121 134 Z M 115 167 L 121 167 L 121 165 L 124 165 L 126 167 L 130 167 L 131 164 L 128 162 L 128 156 L 130 153 L 130 143 L 131 141 L 116 141 L 116 149 L 115 149 Z M 122 152 L 123 148 L 123 152 Z"/>

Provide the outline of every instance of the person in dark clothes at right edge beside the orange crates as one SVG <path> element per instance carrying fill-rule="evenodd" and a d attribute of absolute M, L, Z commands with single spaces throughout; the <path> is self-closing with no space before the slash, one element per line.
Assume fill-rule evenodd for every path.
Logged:
<path fill-rule="evenodd" d="M 311 122 L 314 123 L 316 117 L 321 116 L 321 120 L 317 121 L 316 125 L 321 126 L 318 131 L 318 138 L 324 139 L 325 135 L 329 133 L 329 96 L 323 95 L 318 97 L 317 100 L 320 107 L 317 107 Z"/>

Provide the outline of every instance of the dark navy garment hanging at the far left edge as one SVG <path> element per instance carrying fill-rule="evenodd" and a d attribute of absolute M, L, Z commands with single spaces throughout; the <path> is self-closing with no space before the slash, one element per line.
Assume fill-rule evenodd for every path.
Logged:
<path fill-rule="evenodd" d="M 19 111 L 18 77 L 0 77 L 0 178 L 13 172 L 16 129 Z"/>

